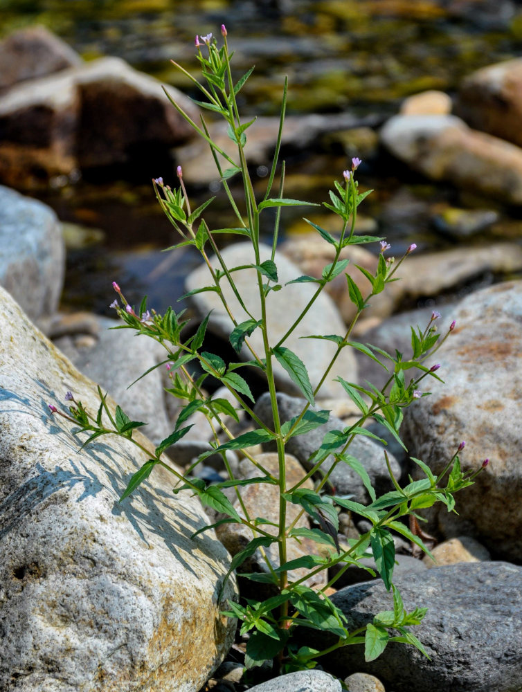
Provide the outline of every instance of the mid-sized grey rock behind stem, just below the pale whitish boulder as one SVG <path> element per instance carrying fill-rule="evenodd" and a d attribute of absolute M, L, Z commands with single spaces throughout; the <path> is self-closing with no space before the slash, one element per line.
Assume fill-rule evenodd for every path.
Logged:
<path fill-rule="evenodd" d="M 287 397 L 285 394 L 278 394 L 278 409 L 281 422 L 288 421 L 294 416 L 300 414 L 305 405 L 304 399 L 294 399 Z M 254 412 L 260 417 L 264 424 L 272 425 L 272 410 L 270 406 L 269 394 L 263 394 L 255 404 Z M 330 416 L 329 421 L 310 432 L 305 432 L 304 435 L 296 435 L 291 437 L 286 445 L 286 450 L 293 454 L 300 463 L 309 471 L 313 464 L 309 462 L 309 456 L 314 453 L 323 441 L 326 432 L 330 430 L 344 430 L 343 421 Z M 264 448 L 270 449 L 270 444 L 263 444 Z M 381 493 L 386 493 L 393 488 L 386 461 L 384 459 L 383 448 L 369 437 L 357 435 L 352 444 L 348 448 L 348 453 L 357 457 L 359 462 L 363 464 L 368 471 L 372 485 L 375 488 L 377 496 Z M 390 465 L 395 477 L 400 477 L 401 469 L 393 455 L 389 455 Z M 327 471 L 334 464 L 334 457 L 330 455 L 323 463 L 323 469 Z M 363 485 L 361 478 L 348 464 L 337 464 L 330 475 L 330 480 L 335 486 L 336 493 L 339 495 L 352 495 L 355 502 L 368 504 L 371 502 L 368 491 Z"/>

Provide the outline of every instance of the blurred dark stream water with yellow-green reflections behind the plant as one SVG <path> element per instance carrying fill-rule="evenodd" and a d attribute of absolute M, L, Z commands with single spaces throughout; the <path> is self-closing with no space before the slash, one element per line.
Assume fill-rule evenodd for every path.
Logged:
<path fill-rule="evenodd" d="M 219 34 L 224 22 L 237 73 L 255 64 L 242 90 L 245 115 L 276 114 L 288 74 L 289 113 L 348 111 L 376 124 L 395 113 L 406 95 L 425 89 L 451 94 L 465 75 L 520 55 L 522 46 L 522 6 L 512 0 L 0 0 L 0 12 L 2 35 L 45 24 L 88 60 L 118 55 L 185 91 L 186 81 L 170 60 L 195 69 L 195 34 Z M 370 149 L 359 179 L 375 193 L 362 212 L 390 242 L 431 249 L 454 243 L 433 224 L 448 204 L 498 210 L 498 224 L 474 242 L 520 241 L 518 212 L 420 180 Z M 321 138 L 289 158 L 287 194 L 291 189 L 289 196 L 298 196 L 295 190 L 306 185 L 303 195 L 323 201 L 332 175 L 339 178 L 349 156 L 358 153 Z M 157 175 L 169 172 L 143 165 L 127 179 L 82 179 L 63 188 L 58 182 L 39 193 L 60 219 L 75 224 L 68 230 L 64 309 L 107 313 L 114 279 L 129 286 L 132 300 L 148 293 L 159 310 L 183 292 L 183 277 L 198 260 L 184 251 L 168 272 L 156 269 L 165 258 L 161 248 L 177 242 L 152 194 L 149 181 Z M 210 194 L 191 192 L 196 202 Z M 219 196 L 213 207 L 220 219 L 228 213 Z M 292 231 L 299 232 L 297 219 L 287 216 L 282 237 Z"/>

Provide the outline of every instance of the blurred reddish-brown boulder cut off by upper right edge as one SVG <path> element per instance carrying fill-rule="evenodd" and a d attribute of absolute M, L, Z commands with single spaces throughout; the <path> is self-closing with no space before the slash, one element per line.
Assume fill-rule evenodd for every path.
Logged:
<path fill-rule="evenodd" d="M 498 62 L 461 84 L 456 112 L 471 127 L 522 146 L 522 58 Z"/>

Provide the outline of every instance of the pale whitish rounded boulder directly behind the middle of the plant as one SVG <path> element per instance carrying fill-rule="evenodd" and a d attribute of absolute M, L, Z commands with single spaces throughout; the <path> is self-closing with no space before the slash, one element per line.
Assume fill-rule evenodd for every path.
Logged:
<path fill-rule="evenodd" d="M 250 244 L 240 243 L 228 246 L 222 251 L 223 260 L 228 267 L 242 266 L 245 264 L 253 264 L 253 249 Z M 260 245 L 261 262 L 268 260 L 271 256 L 271 248 L 269 246 Z M 215 257 L 210 258 L 210 264 L 217 266 Z M 299 269 L 280 253 L 276 253 L 276 266 L 278 268 L 278 278 L 283 289 L 280 292 L 271 291 L 267 295 L 267 322 L 271 343 L 275 345 L 287 332 L 287 329 L 292 325 L 301 311 L 305 308 L 316 288 L 314 284 L 285 284 L 300 276 Z M 254 315 L 260 315 L 260 300 L 258 295 L 258 284 L 256 272 L 253 269 L 237 271 L 233 274 L 237 290 L 244 300 L 246 307 Z M 186 279 L 187 291 L 199 289 L 210 283 L 210 275 L 208 268 L 203 265 L 192 271 Z M 221 282 L 226 302 L 237 322 L 243 322 L 249 316 L 240 307 L 237 298 L 233 294 L 228 282 Z M 190 296 L 190 301 L 197 312 L 199 318 L 204 318 L 209 311 L 210 320 L 208 322 L 208 330 L 217 334 L 221 338 L 228 340 L 231 334 L 233 325 L 219 296 L 215 292 L 206 291 Z M 281 310 L 281 304 L 284 301 L 285 309 Z M 301 338 L 312 334 L 345 334 L 346 327 L 336 310 L 331 298 L 325 293 L 319 295 L 312 308 L 307 312 L 305 320 L 296 327 L 294 332 L 285 341 L 285 347 L 291 349 L 307 367 L 309 379 L 312 387 L 316 387 L 321 381 L 321 378 L 329 365 L 336 346 L 334 343 L 318 339 Z M 249 341 L 258 354 L 263 354 L 263 342 L 260 329 L 255 329 Z M 251 360 L 251 352 L 244 346 L 241 352 L 243 360 Z M 336 397 L 343 392 L 341 385 L 334 382 L 337 376 L 343 376 L 345 379 L 352 379 L 355 376 L 354 356 L 348 349 L 343 349 L 339 358 L 337 358 L 330 374 L 325 383 L 321 387 L 319 396 Z M 287 371 L 273 359 L 274 376 L 276 377 L 277 387 L 289 394 L 300 394 L 300 389 L 292 381 L 287 374 Z M 257 372 L 257 371 L 256 371 Z"/>

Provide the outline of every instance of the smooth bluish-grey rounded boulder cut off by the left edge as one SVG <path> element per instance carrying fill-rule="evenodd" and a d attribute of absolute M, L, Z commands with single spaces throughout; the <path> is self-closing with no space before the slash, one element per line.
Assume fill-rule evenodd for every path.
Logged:
<path fill-rule="evenodd" d="M 0 285 L 32 320 L 42 321 L 58 307 L 64 272 L 64 242 L 55 212 L 0 186 Z"/>

